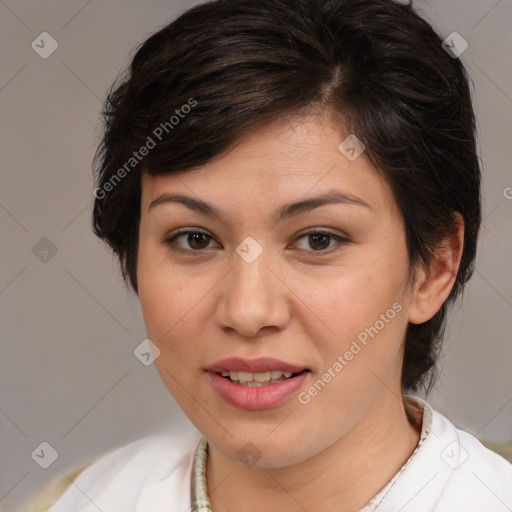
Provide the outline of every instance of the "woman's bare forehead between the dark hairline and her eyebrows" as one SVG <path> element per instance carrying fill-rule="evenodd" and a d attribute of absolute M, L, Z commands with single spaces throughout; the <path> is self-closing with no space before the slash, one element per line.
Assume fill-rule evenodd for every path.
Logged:
<path fill-rule="evenodd" d="M 351 161 L 340 151 L 348 135 L 320 115 L 280 119 L 246 134 L 199 168 L 175 175 L 144 173 L 141 207 L 147 210 L 161 194 L 178 192 L 226 209 L 265 204 L 274 210 L 288 201 L 339 190 L 361 198 L 375 212 L 396 213 L 386 181 L 364 152 Z"/>

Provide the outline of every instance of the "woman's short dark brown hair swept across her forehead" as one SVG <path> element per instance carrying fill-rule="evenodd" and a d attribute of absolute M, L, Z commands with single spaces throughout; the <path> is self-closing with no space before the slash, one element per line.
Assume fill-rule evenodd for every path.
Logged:
<path fill-rule="evenodd" d="M 441 43 L 412 4 L 392 0 L 213 0 L 186 11 L 138 48 L 108 95 L 94 232 L 137 292 L 142 169 L 186 172 L 285 114 L 337 114 L 392 188 L 412 266 L 427 266 L 456 229 L 454 212 L 464 220 L 450 296 L 406 332 L 402 387 L 428 391 L 481 222 L 469 80 Z M 155 146 L 139 161 L 134 152 L 149 139 Z"/>

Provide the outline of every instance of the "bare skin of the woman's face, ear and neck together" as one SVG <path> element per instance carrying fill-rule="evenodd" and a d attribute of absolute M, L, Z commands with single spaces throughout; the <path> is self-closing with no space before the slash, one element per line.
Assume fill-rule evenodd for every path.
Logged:
<path fill-rule="evenodd" d="M 143 175 L 139 299 L 161 351 L 157 370 L 208 439 L 215 512 L 359 510 L 418 443 L 420 425 L 408 421 L 401 395 L 405 330 L 448 297 L 463 226 L 428 271 L 416 269 L 412 287 L 398 207 L 364 153 L 351 162 L 338 150 L 347 135 L 323 116 L 283 118 L 199 169 Z M 360 204 L 277 220 L 283 205 L 332 190 Z M 170 201 L 150 208 L 171 193 L 207 201 L 221 217 Z M 165 242 L 185 228 L 207 236 Z M 319 231 L 346 241 L 314 238 Z M 249 236 L 262 248 L 250 264 L 236 252 Z M 271 356 L 309 368 L 307 393 L 383 314 L 378 334 L 307 403 L 294 396 L 271 409 L 238 409 L 205 370 L 231 356 Z M 259 453 L 251 467 L 239 457 L 249 442 Z"/>

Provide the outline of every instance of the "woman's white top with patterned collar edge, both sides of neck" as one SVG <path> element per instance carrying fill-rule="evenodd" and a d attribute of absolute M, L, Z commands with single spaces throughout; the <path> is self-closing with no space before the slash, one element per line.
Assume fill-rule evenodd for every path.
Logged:
<path fill-rule="evenodd" d="M 195 429 L 186 437 L 162 432 L 118 448 L 48 512 L 189 512 L 200 438 Z M 511 512 L 512 464 L 432 410 L 428 436 L 384 494 L 377 512 Z"/>

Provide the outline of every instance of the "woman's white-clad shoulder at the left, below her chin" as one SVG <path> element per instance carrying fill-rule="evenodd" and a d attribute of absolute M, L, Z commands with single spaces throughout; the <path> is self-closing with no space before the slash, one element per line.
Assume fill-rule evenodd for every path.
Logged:
<path fill-rule="evenodd" d="M 51 482 L 26 510 L 156 511 L 164 499 L 186 510 L 190 505 L 182 502 L 190 501 L 190 492 L 183 495 L 183 488 L 190 489 L 191 465 L 200 437 L 195 429 L 161 431 L 114 448 Z M 169 502 L 173 497 L 175 502 Z"/>

